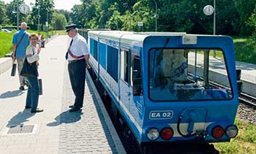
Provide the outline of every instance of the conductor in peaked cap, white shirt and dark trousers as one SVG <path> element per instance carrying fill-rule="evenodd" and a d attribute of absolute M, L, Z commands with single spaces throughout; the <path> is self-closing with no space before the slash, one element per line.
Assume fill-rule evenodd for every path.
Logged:
<path fill-rule="evenodd" d="M 69 62 L 69 79 L 72 90 L 75 93 L 75 104 L 69 107 L 69 112 L 76 112 L 83 107 L 84 87 L 86 82 L 86 68 L 89 66 L 89 48 L 86 39 L 78 34 L 76 25 L 66 26 L 67 34 L 72 38 L 69 49 L 67 50 L 66 59 Z"/>

